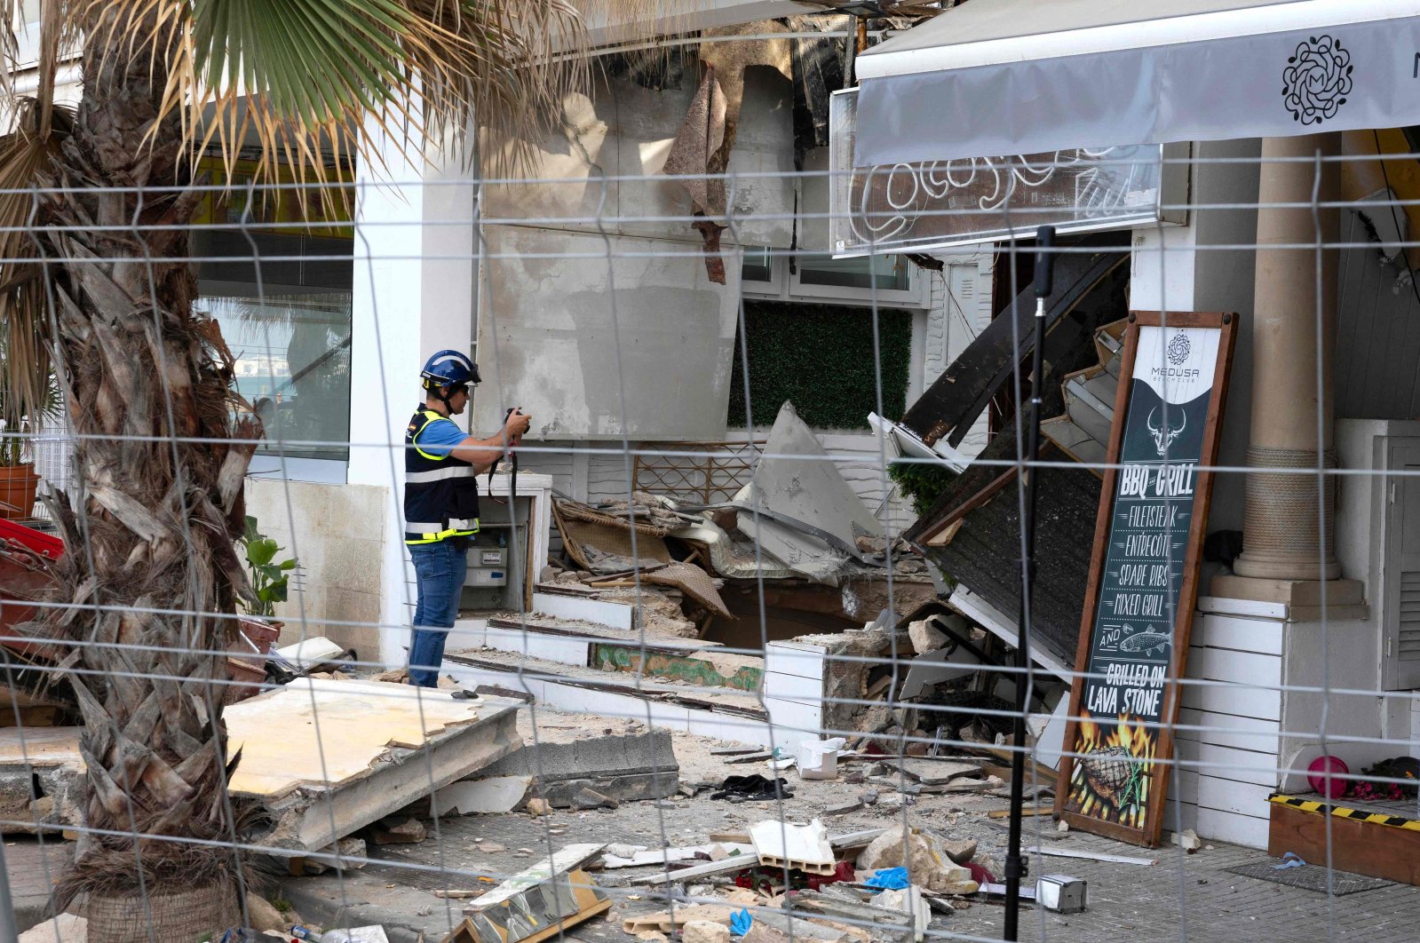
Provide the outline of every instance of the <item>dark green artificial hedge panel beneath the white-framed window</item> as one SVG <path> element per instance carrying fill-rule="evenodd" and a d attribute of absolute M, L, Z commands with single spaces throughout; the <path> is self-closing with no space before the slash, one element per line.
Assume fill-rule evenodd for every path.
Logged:
<path fill-rule="evenodd" d="M 872 308 L 746 301 L 744 327 L 754 422 L 748 420 L 744 408 L 744 359 L 736 337 L 731 427 L 774 425 L 785 399 L 815 429 L 868 427 L 868 413 L 878 412 Z M 882 408 L 888 418 L 899 419 L 907 408 L 912 312 L 879 308 L 878 329 Z"/>

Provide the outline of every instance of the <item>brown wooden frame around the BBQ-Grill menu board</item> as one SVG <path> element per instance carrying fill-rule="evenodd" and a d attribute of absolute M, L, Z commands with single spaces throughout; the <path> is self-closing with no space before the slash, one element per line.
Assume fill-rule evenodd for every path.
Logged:
<path fill-rule="evenodd" d="M 1203 469 L 1211 469 L 1217 464 L 1223 409 L 1227 403 L 1228 374 L 1233 366 L 1233 348 L 1237 338 L 1237 322 L 1238 315 L 1233 312 L 1130 311 L 1129 322 L 1125 331 L 1123 362 L 1119 372 L 1119 388 L 1115 393 L 1115 422 L 1109 435 L 1109 467 L 1105 470 L 1105 483 L 1099 500 L 1099 514 L 1095 521 L 1095 543 L 1091 555 L 1089 582 L 1085 589 L 1085 608 L 1081 616 L 1079 645 L 1075 655 L 1076 675 L 1071 685 L 1064 756 L 1061 757 L 1055 787 L 1055 815 L 1056 818 L 1068 822 L 1071 828 L 1106 835 L 1109 838 L 1145 845 L 1147 848 L 1153 848 L 1159 844 L 1160 834 L 1163 831 L 1163 807 L 1167 795 L 1170 771 L 1173 768 L 1173 727 L 1179 719 L 1179 699 L 1183 687 L 1179 683 L 1179 679 L 1183 677 L 1187 670 L 1189 641 L 1193 632 L 1193 611 L 1198 598 L 1198 569 L 1203 561 L 1203 537 L 1208 521 L 1208 508 L 1213 500 L 1213 471 Z M 1089 780 L 1082 778 L 1081 785 L 1082 791 L 1092 792 L 1088 801 L 1082 802 L 1079 808 L 1071 808 L 1071 804 L 1074 801 L 1072 777 L 1076 765 L 1082 765 L 1079 764 L 1079 760 L 1085 756 L 1081 751 L 1081 747 L 1089 746 L 1081 743 L 1081 731 L 1083 727 L 1081 721 L 1086 720 L 1086 717 L 1081 713 L 1081 700 L 1085 696 L 1085 675 L 1089 672 L 1091 655 L 1095 650 L 1096 609 L 1100 606 L 1100 588 L 1103 584 L 1106 560 L 1109 557 L 1113 514 L 1116 503 L 1119 501 L 1122 471 L 1120 453 L 1123 450 L 1125 433 L 1129 429 L 1130 422 L 1129 409 L 1130 396 L 1135 389 L 1135 366 L 1139 356 L 1140 331 L 1146 327 L 1164 329 L 1216 328 L 1220 331 L 1220 337 L 1213 372 L 1213 392 L 1207 408 L 1207 425 L 1203 432 L 1203 442 L 1198 453 L 1200 470 L 1197 471 L 1197 480 L 1193 484 L 1193 510 L 1189 521 L 1187 550 L 1177 584 L 1179 598 L 1174 608 L 1173 633 L 1169 641 L 1172 650 L 1169 652 L 1166 680 L 1163 683 L 1163 706 L 1160 709 L 1157 723 L 1140 719 L 1139 723 L 1135 724 L 1136 731 L 1139 727 L 1156 727 L 1157 740 L 1154 741 L 1156 746 L 1152 757 L 1145 764 L 1137 761 L 1118 761 L 1132 765 L 1145 765 L 1145 770 L 1142 771 L 1132 770 L 1132 773 L 1137 774 L 1140 781 L 1146 781 L 1143 784 L 1147 795 L 1143 804 L 1140 805 L 1136 802 L 1132 807 L 1135 810 L 1133 818 L 1137 818 L 1142 812 L 1143 821 L 1139 825 L 1126 825 L 1122 821 L 1109 821 L 1100 815 L 1086 814 L 1091 808 L 1103 810 L 1109 801 L 1099 798 L 1099 794 L 1093 792 L 1095 787 L 1089 784 Z M 1164 379 L 1163 382 L 1167 383 L 1169 381 Z M 1146 628 L 1145 632 L 1149 632 L 1149 629 Z M 1123 650 L 1122 645 L 1119 650 Z M 1127 730 L 1126 724 L 1115 724 L 1115 717 L 1118 716 L 1119 714 L 1112 716 L 1110 720 L 1106 721 L 1112 729 L 1110 738 L 1119 737 L 1120 729 Z M 1095 730 L 1095 736 L 1098 737 L 1100 727 L 1091 723 L 1091 729 Z M 1115 744 L 1115 747 L 1118 746 L 1119 744 Z M 1096 744 L 1095 748 L 1100 748 L 1100 746 Z M 1129 747 L 1125 748 L 1127 750 Z M 1133 756 L 1132 750 L 1130 756 Z M 1108 760 L 1103 760 L 1103 763 L 1108 763 Z M 1092 767 L 1086 767 L 1086 770 L 1089 768 Z M 1118 768 L 1118 765 L 1113 768 L 1116 774 Z M 1116 807 L 1120 819 L 1126 817 L 1125 812 L 1127 808 L 1129 807 Z"/>

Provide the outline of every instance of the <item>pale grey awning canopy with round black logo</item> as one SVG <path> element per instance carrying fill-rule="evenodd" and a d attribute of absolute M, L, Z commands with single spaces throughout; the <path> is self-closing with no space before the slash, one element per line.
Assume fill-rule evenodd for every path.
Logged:
<path fill-rule="evenodd" d="M 1417 0 L 971 0 L 858 58 L 855 166 L 1420 124 Z"/>

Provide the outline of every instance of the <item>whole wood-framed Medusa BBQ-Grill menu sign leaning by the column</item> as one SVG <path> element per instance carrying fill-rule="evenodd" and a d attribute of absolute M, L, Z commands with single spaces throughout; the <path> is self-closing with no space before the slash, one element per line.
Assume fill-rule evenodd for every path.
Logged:
<path fill-rule="evenodd" d="M 1157 845 L 1237 315 L 1129 315 L 1055 811 Z"/>

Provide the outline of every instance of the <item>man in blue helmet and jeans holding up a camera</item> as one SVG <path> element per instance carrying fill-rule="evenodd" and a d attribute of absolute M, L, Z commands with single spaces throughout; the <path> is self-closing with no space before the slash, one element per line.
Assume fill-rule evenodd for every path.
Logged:
<path fill-rule="evenodd" d="M 474 439 L 449 418 L 469 405 L 479 366 L 459 351 L 439 351 L 420 376 L 425 402 L 405 432 L 405 544 L 419 582 L 409 683 L 435 687 L 449 629 L 459 616 L 469 537 L 479 533 L 477 476 L 518 443 L 532 419 L 514 409 L 503 432 Z"/>

